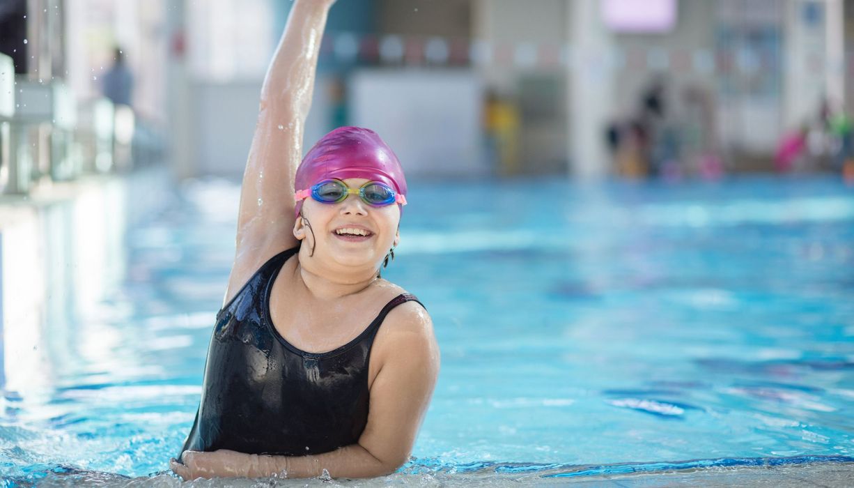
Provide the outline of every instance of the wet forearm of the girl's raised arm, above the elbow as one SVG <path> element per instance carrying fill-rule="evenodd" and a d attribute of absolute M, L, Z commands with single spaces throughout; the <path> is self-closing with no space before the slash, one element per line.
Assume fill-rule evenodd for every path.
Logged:
<path fill-rule="evenodd" d="M 272 107 L 305 121 L 326 16 L 335 0 L 296 0 L 261 88 L 261 109 Z"/>

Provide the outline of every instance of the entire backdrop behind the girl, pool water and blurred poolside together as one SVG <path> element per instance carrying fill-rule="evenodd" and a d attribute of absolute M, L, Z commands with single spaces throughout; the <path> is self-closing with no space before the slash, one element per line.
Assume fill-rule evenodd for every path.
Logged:
<path fill-rule="evenodd" d="M 291 5 L 0 0 L 0 473 L 175 454 Z M 854 0 L 338 0 L 303 150 L 366 126 L 407 170 L 389 276 L 436 304 L 445 351 L 418 456 L 849 454 L 852 115 Z M 502 330 L 528 342 L 478 342 Z M 728 432 L 717 405 L 742 431 L 689 452 Z"/>

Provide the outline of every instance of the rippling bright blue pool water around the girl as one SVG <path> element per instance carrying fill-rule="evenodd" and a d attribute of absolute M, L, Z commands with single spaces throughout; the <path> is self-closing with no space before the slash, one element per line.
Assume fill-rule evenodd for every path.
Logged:
<path fill-rule="evenodd" d="M 120 285 L 47 326 L 54 373 L 3 398 L 7 483 L 166 469 L 196 413 L 238 191 L 184 185 L 126 233 Z M 537 179 L 410 194 L 383 274 L 427 305 L 442 372 L 395 476 L 854 461 L 851 187 Z"/>

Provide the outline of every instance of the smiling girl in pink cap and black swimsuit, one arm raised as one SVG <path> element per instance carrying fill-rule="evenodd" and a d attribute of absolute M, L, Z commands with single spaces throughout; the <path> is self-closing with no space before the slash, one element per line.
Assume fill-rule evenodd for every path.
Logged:
<path fill-rule="evenodd" d="M 430 315 L 379 276 L 407 203 L 395 154 L 341 127 L 299 164 L 334 1 L 295 1 L 266 74 L 202 400 L 170 462 L 184 479 L 392 473 L 436 384 Z"/>

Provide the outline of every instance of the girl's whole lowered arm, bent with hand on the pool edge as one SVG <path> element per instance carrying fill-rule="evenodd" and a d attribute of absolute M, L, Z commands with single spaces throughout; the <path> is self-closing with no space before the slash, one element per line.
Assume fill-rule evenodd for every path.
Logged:
<path fill-rule="evenodd" d="M 415 303 L 392 310 L 377 333 L 365 432 L 357 444 L 316 456 L 256 456 L 229 450 L 185 452 L 171 467 L 184 479 L 219 476 L 370 478 L 407 462 L 439 373 L 439 348 L 430 316 Z M 378 348 L 378 349 L 377 349 Z M 378 353 L 378 354 L 377 354 Z"/>

